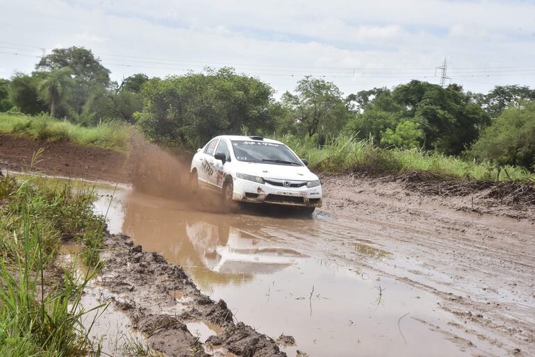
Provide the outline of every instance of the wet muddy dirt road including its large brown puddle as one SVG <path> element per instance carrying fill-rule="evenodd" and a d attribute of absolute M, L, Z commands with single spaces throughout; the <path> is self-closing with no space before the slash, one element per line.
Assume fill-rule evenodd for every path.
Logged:
<path fill-rule="evenodd" d="M 292 335 L 295 346 L 280 346 L 289 356 L 535 356 L 532 206 L 429 196 L 391 179 L 322 185 L 311 219 L 201 212 L 124 188 L 109 229 L 181 265 L 256 331 Z M 197 327 L 201 341 L 221 333 Z"/>

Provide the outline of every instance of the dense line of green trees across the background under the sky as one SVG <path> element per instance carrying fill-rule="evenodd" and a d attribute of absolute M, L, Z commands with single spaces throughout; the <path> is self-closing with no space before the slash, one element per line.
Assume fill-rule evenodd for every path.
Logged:
<path fill-rule="evenodd" d="M 471 155 L 534 170 L 535 90 L 496 86 L 487 94 L 460 85 L 411 81 L 347 96 L 311 76 L 274 99 L 273 88 L 233 69 L 120 83 L 91 51 L 54 49 L 31 74 L 0 79 L 0 111 L 47 112 L 90 126 L 135 124 L 156 142 L 199 145 L 220 133 L 307 136 L 318 145 L 340 133 L 384 147 Z"/>

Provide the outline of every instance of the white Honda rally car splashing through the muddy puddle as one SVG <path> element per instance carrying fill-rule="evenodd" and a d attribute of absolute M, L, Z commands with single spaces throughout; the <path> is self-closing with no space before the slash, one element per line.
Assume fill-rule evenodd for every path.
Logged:
<path fill-rule="evenodd" d="M 318 176 L 282 142 L 260 136 L 221 135 L 198 149 L 191 162 L 194 189 L 221 192 L 224 201 L 302 207 L 322 204 Z"/>

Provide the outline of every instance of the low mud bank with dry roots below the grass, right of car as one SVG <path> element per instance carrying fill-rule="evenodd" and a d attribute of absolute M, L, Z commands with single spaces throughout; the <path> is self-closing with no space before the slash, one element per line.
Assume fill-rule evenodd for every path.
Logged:
<path fill-rule="evenodd" d="M 353 194 L 368 193 L 396 199 L 407 207 L 434 204 L 466 213 L 497 215 L 535 222 L 535 183 L 517 181 L 478 181 L 444 179 L 432 172 L 413 171 L 400 176 L 361 176 L 359 174 L 321 175 L 322 185 L 347 190 L 347 202 Z M 365 190 L 365 191 L 364 191 Z M 402 196 L 403 199 L 399 199 Z M 329 204 L 331 197 L 327 195 Z M 338 205 L 340 203 L 338 201 Z"/>

